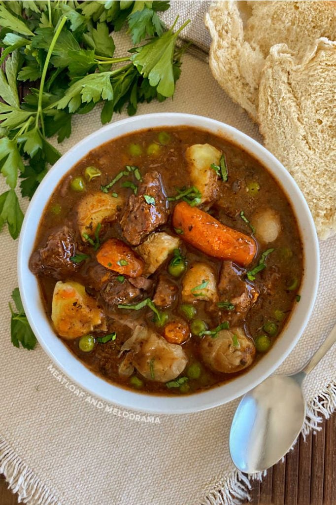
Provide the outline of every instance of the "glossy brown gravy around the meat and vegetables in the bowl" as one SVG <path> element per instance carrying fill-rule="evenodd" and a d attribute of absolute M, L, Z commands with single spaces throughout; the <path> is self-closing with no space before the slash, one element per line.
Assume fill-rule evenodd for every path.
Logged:
<path fill-rule="evenodd" d="M 167 132 L 170 135 L 170 140 L 166 145 L 158 143 L 158 133 L 160 131 Z M 146 154 L 146 150 L 151 143 L 156 143 L 159 146 L 158 152 L 155 155 Z M 213 135 L 201 129 L 185 126 L 148 129 L 124 135 L 93 149 L 71 168 L 53 192 L 40 221 L 35 249 L 45 245 L 52 229 L 57 229 L 67 224 L 73 230 L 78 244 L 77 251 L 91 257 L 91 259 L 82 262 L 79 270 L 69 276 L 68 280 L 75 280 L 85 285 L 87 269 L 96 265 L 96 259 L 92 246 L 87 242 L 83 242 L 77 226 L 76 209 L 80 199 L 88 193 L 100 191 L 101 185 L 108 184 L 127 165 L 137 166 L 142 177 L 148 171 L 158 171 L 161 174 L 166 194 L 174 196 L 177 194 L 177 188 L 192 185 L 185 157 L 186 148 L 193 144 L 204 143 L 211 144 L 225 153 L 228 167 L 228 181 L 218 182 L 218 197 L 207 210 L 209 214 L 221 223 L 246 235 L 251 235 L 252 229 L 250 224 L 243 220 L 241 216 L 242 211 L 248 220 L 251 220 L 256 211 L 263 208 L 273 209 L 280 217 L 281 232 L 278 237 L 267 245 L 260 245 L 257 242 L 258 251 L 256 257 L 251 266 L 247 268 L 249 270 L 258 264 L 260 255 L 265 249 L 274 248 L 274 251 L 267 257 L 266 268 L 259 272 L 255 276 L 255 280 L 250 283 L 258 290 L 259 296 L 240 324 L 248 337 L 254 341 L 258 336 L 265 334 L 263 326 L 266 323 L 272 322 L 276 327 L 276 334 L 269 335 L 269 340 L 273 344 L 277 338 L 281 338 L 282 329 L 290 317 L 293 306 L 297 302 L 296 297 L 303 275 L 303 250 L 296 218 L 283 189 L 270 173 L 241 147 L 228 142 L 220 136 Z M 142 154 L 131 155 L 130 144 L 140 145 Z M 83 176 L 84 170 L 88 166 L 94 166 L 99 169 L 101 176 L 93 178 L 90 182 L 86 182 L 85 192 L 72 190 L 70 187 L 71 181 L 77 176 Z M 123 195 L 127 201 L 132 194 L 132 189 L 121 187 L 123 180 L 125 178 L 117 182 L 111 191 L 116 191 L 119 195 Z M 135 179 L 134 182 L 137 183 Z M 251 192 L 247 190 L 248 187 L 251 187 L 251 182 L 256 182 L 259 185 L 258 191 Z M 170 203 L 171 214 L 169 219 L 166 224 L 159 226 L 155 231 L 165 231 L 170 235 L 177 236 L 172 225 L 172 210 L 175 205 L 174 201 Z M 57 212 L 55 212 L 55 209 Z M 120 219 L 112 223 L 103 223 L 100 230 L 100 243 L 104 243 L 111 237 L 117 237 L 126 241 L 122 234 Z M 222 265 L 220 260 L 203 254 L 183 240 L 181 240 L 180 249 L 188 264 L 193 261 L 209 264 L 213 268 L 218 280 Z M 150 279 L 153 280 L 152 287 L 139 298 L 132 300 L 131 304 L 136 304 L 146 297 L 153 298 L 158 276 L 162 272 L 167 273 L 167 265 L 171 259 L 172 255 L 150 276 Z M 65 279 L 57 279 L 43 274 L 39 274 L 37 277 L 46 313 L 51 318 L 52 293 L 55 283 L 58 280 Z M 179 310 L 181 305 L 182 279 L 183 276 L 173 279 L 179 287 L 179 294 L 171 307 L 163 309 L 170 319 L 174 319 L 175 317 L 183 318 Z M 93 290 L 89 290 L 89 293 L 93 296 L 98 296 L 98 293 L 95 293 Z M 209 328 L 215 328 L 225 319 L 223 311 L 221 312 L 221 317 L 219 317 L 220 311 L 214 310 L 213 304 L 208 301 L 198 301 L 196 299 L 193 305 L 197 307 L 196 317 L 206 321 Z M 123 359 L 123 356 L 120 356 L 121 347 L 133 333 L 133 329 L 123 322 L 126 319 L 132 321 L 141 317 L 143 323 L 155 330 L 156 333 L 162 335 L 163 328 L 158 328 L 155 325 L 153 322 L 153 313 L 148 307 L 141 309 L 141 311 L 133 311 L 118 309 L 115 306 L 110 308 L 108 312 L 107 333 L 116 332 L 117 336 L 114 341 L 108 341 L 107 343 L 96 342 L 93 350 L 90 352 L 80 350 L 78 346 L 79 338 L 63 341 L 73 354 L 94 373 L 107 381 L 132 388 L 130 379 L 122 378 L 118 373 L 119 364 Z M 105 333 L 106 331 L 92 332 L 92 335 L 94 337 L 101 337 Z M 225 383 L 248 370 L 247 368 L 241 372 L 230 374 L 210 370 L 204 364 L 200 355 L 200 340 L 201 337 L 191 336 L 182 344 L 188 357 L 188 364 L 186 369 L 180 374 L 180 377 L 188 376 L 188 369 L 193 363 L 197 363 L 200 368 L 199 377 L 189 377 L 188 386 L 184 388 L 168 388 L 164 383 L 145 379 L 135 369 L 133 376 L 138 377 L 142 382 L 142 386 L 137 390 L 139 392 L 165 395 L 193 393 Z M 262 356 L 263 353 L 257 351 L 254 363 L 262 359 Z"/>

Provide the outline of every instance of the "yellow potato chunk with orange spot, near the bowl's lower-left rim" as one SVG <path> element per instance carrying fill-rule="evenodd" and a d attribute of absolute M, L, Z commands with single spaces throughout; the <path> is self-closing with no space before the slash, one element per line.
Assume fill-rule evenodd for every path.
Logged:
<path fill-rule="evenodd" d="M 78 282 L 57 282 L 53 290 L 51 320 L 57 333 L 73 340 L 102 323 L 103 312 Z"/>

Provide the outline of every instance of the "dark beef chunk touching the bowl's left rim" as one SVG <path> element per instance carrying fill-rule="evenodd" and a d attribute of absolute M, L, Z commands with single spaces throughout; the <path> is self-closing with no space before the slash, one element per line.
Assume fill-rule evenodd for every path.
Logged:
<path fill-rule="evenodd" d="M 30 257 L 29 268 L 34 274 L 44 274 L 63 280 L 76 272 L 79 265 L 70 260 L 76 255 L 76 241 L 68 226 L 54 230 Z"/>

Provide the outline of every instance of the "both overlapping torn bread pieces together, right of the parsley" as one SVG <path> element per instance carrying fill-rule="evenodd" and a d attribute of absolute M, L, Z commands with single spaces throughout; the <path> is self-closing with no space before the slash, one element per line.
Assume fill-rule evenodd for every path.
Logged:
<path fill-rule="evenodd" d="M 336 233 L 336 2 L 217 2 L 210 68 L 293 175 L 318 235 Z"/>

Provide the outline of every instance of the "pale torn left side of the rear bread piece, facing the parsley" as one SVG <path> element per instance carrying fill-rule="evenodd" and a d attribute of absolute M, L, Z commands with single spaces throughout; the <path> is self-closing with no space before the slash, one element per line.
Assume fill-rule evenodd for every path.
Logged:
<path fill-rule="evenodd" d="M 205 15 L 210 31 L 210 68 L 226 93 L 241 105 L 253 120 L 264 56 L 259 48 L 244 41 L 244 27 L 237 2 L 217 2 Z"/>

